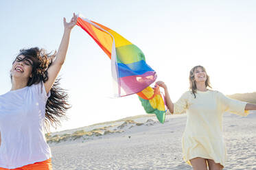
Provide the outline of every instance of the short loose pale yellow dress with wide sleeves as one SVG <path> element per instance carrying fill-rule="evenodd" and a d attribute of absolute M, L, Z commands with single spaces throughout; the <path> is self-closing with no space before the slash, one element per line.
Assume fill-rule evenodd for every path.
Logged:
<path fill-rule="evenodd" d="M 174 114 L 187 112 L 187 124 L 182 137 L 183 159 L 200 157 L 212 159 L 224 167 L 226 147 L 222 135 L 224 112 L 247 116 L 246 102 L 224 96 L 216 90 L 185 92 L 174 104 Z"/>

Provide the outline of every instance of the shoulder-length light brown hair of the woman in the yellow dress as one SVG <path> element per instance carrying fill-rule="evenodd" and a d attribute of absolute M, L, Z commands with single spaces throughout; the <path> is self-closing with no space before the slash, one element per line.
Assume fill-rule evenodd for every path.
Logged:
<path fill-rule="evenodd" d="M 190 84 L 189 90 L 191 90 L 191 93 L 194 94 L 194 97 L 195 97 L 195 98 L 196 98 L 195 71 L 196 71 L 196 69 L 198 69 L 198 68 L 201 68 L 202 71 L 205 71 L 205 67 L 198 65 L 198 66 L 194 66 L 194 67 L 191 69 L 190 73 L 189 73 L 189 84 Z M 206 72 L 206 71 L 205 71 L 205 73 L 206 73 L 206 75 L 207 75 L 207 72 Z M 206 86 L 206 88 L 207 88 L 207 87 L 211 88 L 209 75 L 207 75 L 207 78 L 206 78 L 206 81 L 205 81 L 205 86 Z"/>

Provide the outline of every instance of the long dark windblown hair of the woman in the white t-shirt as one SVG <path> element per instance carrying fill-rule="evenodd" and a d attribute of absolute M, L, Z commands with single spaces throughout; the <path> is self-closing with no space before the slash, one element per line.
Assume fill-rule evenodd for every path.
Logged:
<path fill-rule="evenodd" d="M 24 56 L 24 58 L 19 58 L 19 56 Z M 47 82 L 49 78 L 47 69 L 51 66 L 55 57 L 56 51 L 51 54 L 47 53 L 45 49 L 39 49 L 38 47 L 20 50 L 15 60 L 32 60 L 32 76 L 29 78 L 27 86 L 32 86 L 32 84 L 38 84 L 40 82 Z M 45 125 L 47 130 L 49 130 L 50 125 L 53 127 L 60 125 L 60 119 L 67 118 L 66 112 L 71 108 L 67 101 L 69 96 L 67 95 L 66 90 L 60 88 L 59 85 L 60 78 L 58 77 L 54 82 L 54 85 L 51 87 L 51 95 L 46 103 Z"/>

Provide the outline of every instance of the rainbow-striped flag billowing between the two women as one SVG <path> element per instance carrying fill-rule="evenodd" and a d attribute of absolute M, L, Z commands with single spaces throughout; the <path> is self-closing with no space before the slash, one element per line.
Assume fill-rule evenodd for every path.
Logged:
<path fill-rule="evenodd" d="M 76 23 L 86 31 L 111 60 L 114 96 L 123 97 L 137 93 L 142 106 L 149 114 L 165 121 L 165 102 L 159 87 L 150 87 L 156 72 L 146 63 L 141 49 L 99 23 L 78 16 Z"/>

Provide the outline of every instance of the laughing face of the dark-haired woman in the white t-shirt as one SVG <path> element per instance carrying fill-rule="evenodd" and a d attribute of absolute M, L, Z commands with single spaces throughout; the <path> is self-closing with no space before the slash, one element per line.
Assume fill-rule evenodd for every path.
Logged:
<path fill-rule="evenodd" d="M 28 81 L 32 76 L 32 60 L 25 56 L 18 56 L 12 64 L 11 75 L 12 79 Z"/>

